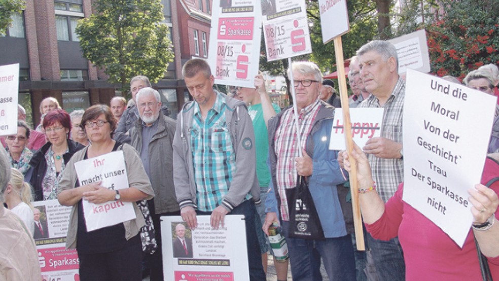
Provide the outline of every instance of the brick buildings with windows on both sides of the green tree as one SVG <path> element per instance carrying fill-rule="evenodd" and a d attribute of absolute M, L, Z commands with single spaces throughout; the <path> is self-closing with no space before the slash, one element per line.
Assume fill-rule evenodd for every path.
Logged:
<path fill-rule="evenodd" d="M 182 65 L 191 57 L 207 58 L 211 0 L 162 0 L 164 24 L 170 28 L 174 61 L 153 87 L 164 96 L 173 117 L 189 93 L 182 80 Z M 13 16 L 5 37 L 0 37 L 0 65 L 19 63 L 19 103 L 35 126 L 40 101 L 57 98 L 68 112 L 105 103 L 116 85 L 83 57 L 75 33 L 79 19 L 92 13 L 91 0 L 26 0 L 26 9 Z M 163 99 L 163 97 L 162 97 Z"/>

